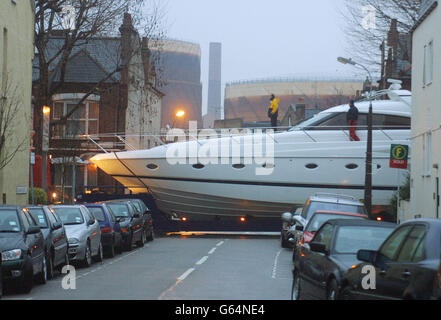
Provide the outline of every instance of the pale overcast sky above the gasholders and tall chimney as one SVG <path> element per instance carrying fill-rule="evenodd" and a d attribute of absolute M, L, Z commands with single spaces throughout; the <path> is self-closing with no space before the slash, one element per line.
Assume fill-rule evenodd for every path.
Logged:
<path fill-rule="evenodd" d="M 352 75 L 342 0 L 167 0 L 167 36 L 201 46 L 203 113 L 209 43 L 222 43 L 222 83 L 295 75 Z"/>

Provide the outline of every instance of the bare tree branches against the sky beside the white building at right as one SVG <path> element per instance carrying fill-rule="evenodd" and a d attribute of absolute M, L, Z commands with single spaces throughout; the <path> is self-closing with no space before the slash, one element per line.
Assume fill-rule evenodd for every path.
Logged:
<path fill-rule="evenodd" d="M 380 46 L 387 38 L 392 19 L 397 19 L 399 32 L 410 32 L 418 20 L 422 1 L 345 0 L 340 13 L 345 21 L 348 55 L 379 73 Z"/>

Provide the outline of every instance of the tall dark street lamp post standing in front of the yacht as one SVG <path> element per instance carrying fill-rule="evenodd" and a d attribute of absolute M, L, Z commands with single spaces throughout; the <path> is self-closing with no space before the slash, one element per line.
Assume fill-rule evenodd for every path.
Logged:
<path fill-rule="evenodd" d="M 368 68 L 364 65 L 353 61 L 352 59 L 346 59 L 338 57 L 337 61 L 343 64 L 350 64 L 353 66 L 360 66 L 363 68 L 369 77 L 371 84 L 369 92 L 369 113 L 368 113 L 368 138 L 366 148 L 366 173 L 365 173 L 365 186 L 364 186 L 364 204 L 369 217 L 372 217 L 372 75 Z"/>

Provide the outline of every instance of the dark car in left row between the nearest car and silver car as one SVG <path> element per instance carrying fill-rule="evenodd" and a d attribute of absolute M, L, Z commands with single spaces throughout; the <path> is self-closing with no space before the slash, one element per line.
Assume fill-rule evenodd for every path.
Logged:
<path fill-rule="evenodd" d="M 54 269 L 61 271 L 69 264 L 66 230 L 60 217 L 48 206 L 29 206 L 26 209 L 43 232 L 47 278 L 52 279 Z"/>

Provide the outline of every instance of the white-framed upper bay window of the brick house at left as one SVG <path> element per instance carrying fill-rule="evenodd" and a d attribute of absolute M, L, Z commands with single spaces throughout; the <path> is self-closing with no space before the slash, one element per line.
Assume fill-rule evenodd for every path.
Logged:
<path fill-rule="evenodd" d="M 88 97 L 81 105 L 81 95 L 62 94 L 54 96 L 53 119 L 59 120 L 70 115 L 66 125 L 58 126 L 56 138 L 72 138 L 81 135 L 97 135 L 99 133 L 99 97 Z"/>

